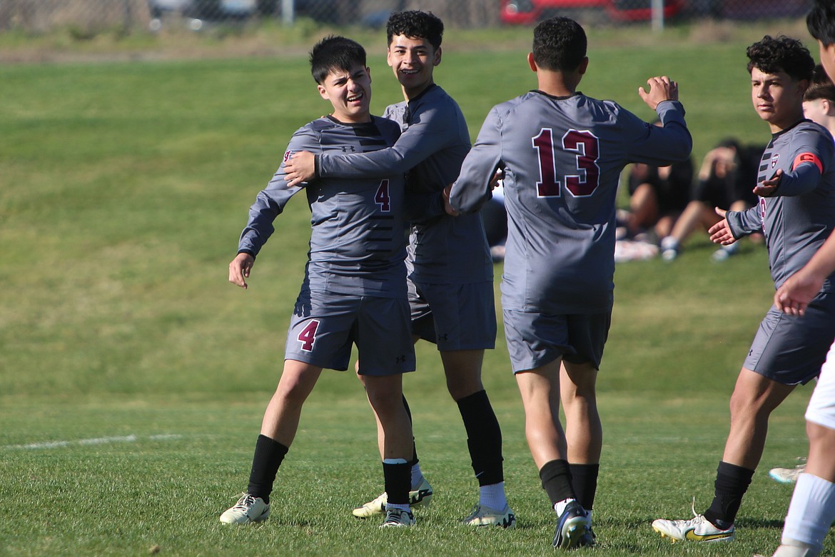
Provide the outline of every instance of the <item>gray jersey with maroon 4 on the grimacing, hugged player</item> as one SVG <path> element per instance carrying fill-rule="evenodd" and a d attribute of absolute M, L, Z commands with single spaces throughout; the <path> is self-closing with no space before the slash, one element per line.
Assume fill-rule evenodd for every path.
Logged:
<path fill-rule="evenodd" d="M 284 160 L 295 151 L 373 151 L 397 140 L 400 128 L 388 119 L 342 124 L 330 117 L 298 129 Z M 273 220 L 301 187 L 288 188 L 284 163 L 256 197 L 238 244 L 257 256 L 275 230 Z M 406 297 L 406 256 L 400 174 L 368 179 L 322 179 L 304 188 L 311 208 L 311 241 L 306 281 L 311 290 L 380 297 Z"/>

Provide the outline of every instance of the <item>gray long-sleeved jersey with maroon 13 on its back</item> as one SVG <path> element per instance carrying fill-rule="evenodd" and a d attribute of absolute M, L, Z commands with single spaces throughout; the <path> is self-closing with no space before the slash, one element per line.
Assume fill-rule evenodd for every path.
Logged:
<path fill-rule="evenodd" d="M 670 165 L 690 156 L 681 104 L 665 101 L 656 111 L 663 128 L 581 93 L 531 91 L 493 107 L 450 201 L 477 210 L 493 170 L 504 169 L 505 310 L 610 310 L 620 172 L 630 162 Z"/>

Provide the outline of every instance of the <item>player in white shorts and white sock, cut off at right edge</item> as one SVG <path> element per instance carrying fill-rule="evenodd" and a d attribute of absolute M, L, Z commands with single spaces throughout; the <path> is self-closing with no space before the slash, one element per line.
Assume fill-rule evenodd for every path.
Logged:
<path fill-rule="evenodd" d="M 823 67 L 835 78 L 835 5 L 817 0 L 806 19 L 817 39 Z M 816 300 L 832 296 L 835 236 L 774 295 L 774 305 L 790 316 L 803 316 Z M 797 479 L 780 547 L 774 557 L 817 557 L 835 520 L 835 344 L 830 347 L 806 410 L 809 438 L 807 468 Z"/>

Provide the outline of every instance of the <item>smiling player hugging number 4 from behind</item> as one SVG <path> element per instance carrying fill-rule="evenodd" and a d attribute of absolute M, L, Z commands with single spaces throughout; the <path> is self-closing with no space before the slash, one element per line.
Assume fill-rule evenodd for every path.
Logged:
<path fill-rule="evenodd" d="M 432 13 L 393 13 L 387 23 L 387 62 L 405 101 L 389 106 L 384 116 L 402 125 L 400 139 L 391 149 L 366 154 L 296 153 L 286 166 L 290 184 L 314 176 L 408 171 L 410 188 L 440 192 L 455 180 L 470 139 L 458 104 L 434 83 L 442 37 L 443 22 Z M 412 334 L 415 341 L 423 338 L 438 346 L 449 394 L 467 431 L 479 496 L 463 524 L 512 528 L 516 518 L 504 493 L 502 433 L 481 380 L 484 350 L 493 348 L 496 339 L 493 261 L 479 215 L 453 218 L 443 206 L 437 210 L 437 217 L 412 222 L 406 261 Z M 378 432 L 385 437 L 382 428 Z M 427 504 L 431 495 L 415 454 L 412 504 Z M 364 518 L 381 512 L 386 497 L 383 493 L 353 514 Z"/>

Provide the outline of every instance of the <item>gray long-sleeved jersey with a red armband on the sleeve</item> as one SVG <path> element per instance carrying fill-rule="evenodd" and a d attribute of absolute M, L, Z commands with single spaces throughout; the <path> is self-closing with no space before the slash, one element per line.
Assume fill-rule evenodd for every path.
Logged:
<path fill-rule="evenodd" d="M 774 285 L 800 271 L 835 227 L 835 145 L 808 120 L 772 136 L 760 161 L 757 183 L 783 171 L 777 191 L 749 210 L 726 215 L 739 238 L 763 232 Z M 754 185 L 751 184 L 751 188 Z M 827 280 L 823 291 L 832 291 Z"/>

